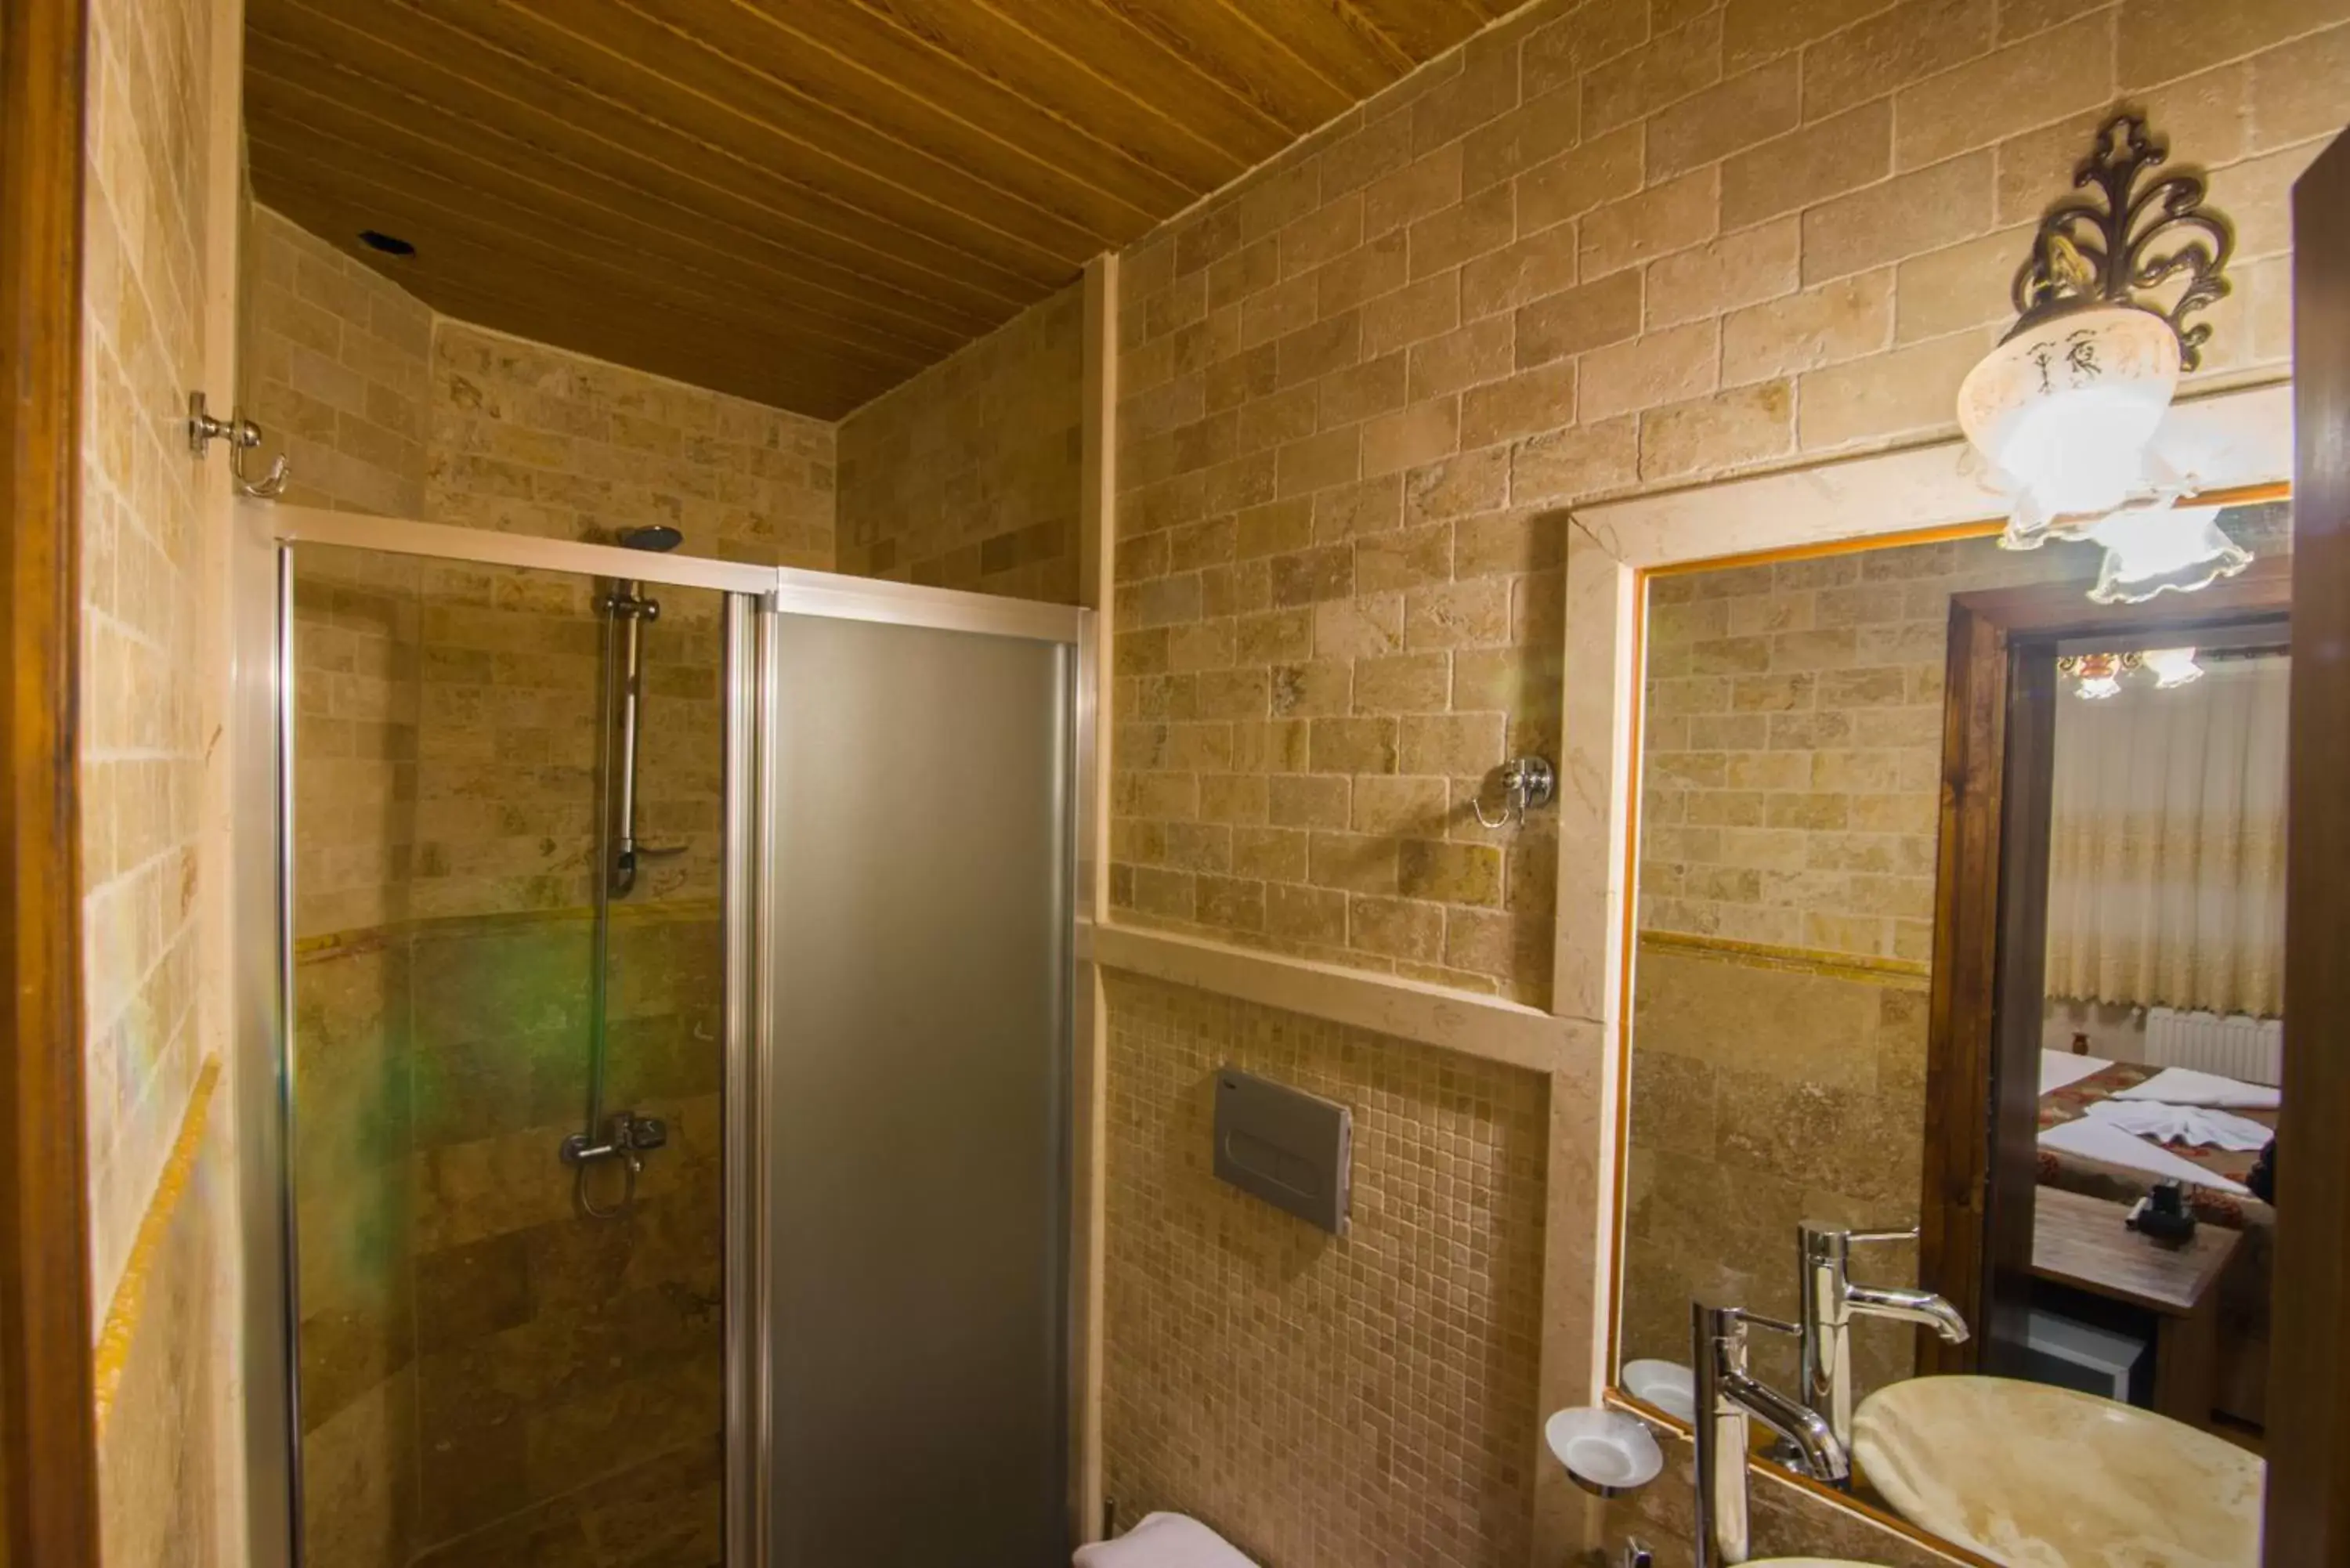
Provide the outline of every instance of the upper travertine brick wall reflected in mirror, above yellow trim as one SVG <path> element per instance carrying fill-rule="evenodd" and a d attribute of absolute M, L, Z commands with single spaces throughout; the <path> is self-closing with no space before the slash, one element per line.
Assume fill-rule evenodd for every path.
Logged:
<path fill-rule="evenodd" d="M 1950 595 L 2094 578 L 1995 538 L 1654 578 L 1640 929 L 1929 959 Z"/>

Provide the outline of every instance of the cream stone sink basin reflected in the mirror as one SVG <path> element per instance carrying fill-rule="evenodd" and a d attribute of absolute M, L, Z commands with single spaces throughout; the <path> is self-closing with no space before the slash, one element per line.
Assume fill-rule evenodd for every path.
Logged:
<path fill-rule="evenodd" d="M 1852 1415 L 1861 1476 L 2012 1568 L 2258 1568 L 2268 1465 L 2136 1406 L 2009 1378 L 1915 1378 Z"/>

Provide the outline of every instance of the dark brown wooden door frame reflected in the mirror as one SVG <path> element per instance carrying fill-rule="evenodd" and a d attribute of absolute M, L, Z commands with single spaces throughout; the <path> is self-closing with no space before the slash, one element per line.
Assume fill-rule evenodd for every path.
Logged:
<path fill-rule="evenodd" d="M 2294 562 L 2263 557 L 2225 583 L 2148 604 L 2092 604 L 2082 583 L 1950 599 L 1918 1281 L 1948 1298 L 1974 1335 L 1943 1345 L 1920 1333 L 1920 1375 L 2012 1371 L 1986 1368 L 1986 1349 L 2021 1342 L 2028 1312 L 2033 1206 L 2012 1194 L 2037 1185 L 2040 1011 L 2023 1016 L 2002 999 L 2040 994 L 2047 910 L 2037 898 L 2007 900 L 2002 889 L 2047 884 L 2054 684 L 2026 656 L 2068 637 L 2146 644 L 2148 635 L 2282 616 L 2291 588 Z"/>

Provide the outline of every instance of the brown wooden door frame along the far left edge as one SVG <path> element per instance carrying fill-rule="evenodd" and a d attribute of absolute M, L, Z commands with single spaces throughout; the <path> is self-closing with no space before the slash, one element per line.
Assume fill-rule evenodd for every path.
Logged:
<path fill-rule="evenodd" d="M 0 1493 L 7 1561 L 99 1561 L 80 877 L 85 0 L 0 0 Z"/>

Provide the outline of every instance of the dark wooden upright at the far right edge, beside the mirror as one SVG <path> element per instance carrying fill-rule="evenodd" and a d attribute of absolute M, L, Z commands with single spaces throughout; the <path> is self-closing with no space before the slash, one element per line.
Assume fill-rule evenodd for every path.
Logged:
<path fill-rule="evenodd" d="M 2350 136 L 2294 183 L 2294 447 L 2291 1006 L 2263 1542 L 2270 1568 L 2341 1568 L 2350 1561 Z"/>

